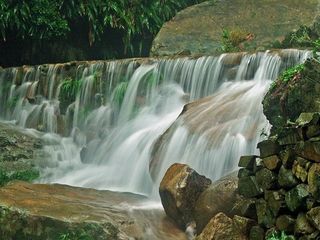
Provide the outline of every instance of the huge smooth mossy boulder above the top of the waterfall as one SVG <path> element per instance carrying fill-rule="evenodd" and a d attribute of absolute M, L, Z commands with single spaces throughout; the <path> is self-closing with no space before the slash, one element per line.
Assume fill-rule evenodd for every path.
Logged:
<path fill-rule="evenodd" d="M 318 0 L 206 1 L 165 23 L 153 42 L 151 56 L 217 55 L 224 30 L 251 36 L 243 50 L 270 49 L 301 25 L 311 26 L 317 15 Z"/>

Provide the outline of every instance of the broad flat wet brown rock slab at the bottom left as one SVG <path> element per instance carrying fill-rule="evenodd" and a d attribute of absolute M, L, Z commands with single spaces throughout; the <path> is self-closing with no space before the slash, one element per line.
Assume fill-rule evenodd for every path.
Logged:
<path fill-rule="evenodd" d="M 185 240 L 184 233 L 164 219 L 163 211 L 155 210 L 153 219 L 150 212 L 129 207 L 143 199 L 128 193 L 14 182 L 0 188 L 0 236 L 3 240 Z"/>

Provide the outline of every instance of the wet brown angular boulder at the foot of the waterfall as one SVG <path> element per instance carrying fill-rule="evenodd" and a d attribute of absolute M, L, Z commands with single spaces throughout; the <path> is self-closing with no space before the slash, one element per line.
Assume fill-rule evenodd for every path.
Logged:
<path fill-rule="evenodd" d="M 166 214 L 181 227 L 192 222 L 195 203 L 209 187 L 211 180 L 199 175 L 185 164 L 173 164 L 164 175 L 159 188 Z"/>

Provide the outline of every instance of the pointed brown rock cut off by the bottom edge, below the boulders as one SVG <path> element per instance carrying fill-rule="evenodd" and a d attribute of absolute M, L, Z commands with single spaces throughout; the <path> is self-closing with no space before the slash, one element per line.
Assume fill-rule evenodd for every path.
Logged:
<path fill-rule="evenodd" d="M 215 215 L 207 226 L 203 229 L 202 233 L 195 238 L 195 240 L 247 240 L 247 237 L 233 225 L 231 218 L 223 213 Z"/>

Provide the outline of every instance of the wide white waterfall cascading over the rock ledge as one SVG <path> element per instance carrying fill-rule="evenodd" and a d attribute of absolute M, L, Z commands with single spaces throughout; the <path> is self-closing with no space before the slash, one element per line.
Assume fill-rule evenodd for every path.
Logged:
<path fill-rule="evenodd" d="M 269 84 L 308 56 L 281 50 L 10 68 L 0 71 L 0 114 L 46 132 L 40 182 L 150 195 L 174 162 L 217 179 L 255 153 L 269 129 L 261 104 Z M 73 91 L 67 82 L 79 83 L 72 102 L 63 96 Z M 180 115 L 189 102 L 194 110 Z"/>

